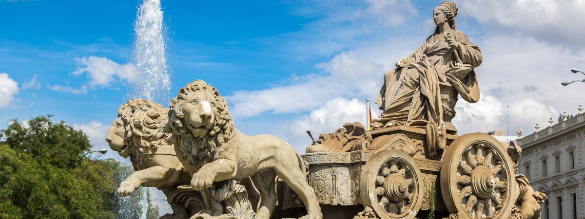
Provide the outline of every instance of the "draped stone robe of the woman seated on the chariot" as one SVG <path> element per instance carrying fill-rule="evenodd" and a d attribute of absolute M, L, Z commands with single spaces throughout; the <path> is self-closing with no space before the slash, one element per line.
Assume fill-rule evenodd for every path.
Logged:
<path fill-rule="evenodd" d="M 404 68 L 386 73 L 376 100 L 381 110 L 374 121 L 383 124 L 413 124 L 425 121 L 440 126 L 443 104 L 439 82 L 449 82 L 464 100 L 479 100 L 479 84 L 473 68 L 481 64 L 481 51 L 459 30 L 449 30 L 459 42 L 457 50 L 462 65 L 457 65 L 453 49 L 443 33 L 435 32 L 417 50 L 402 61 Z"/>

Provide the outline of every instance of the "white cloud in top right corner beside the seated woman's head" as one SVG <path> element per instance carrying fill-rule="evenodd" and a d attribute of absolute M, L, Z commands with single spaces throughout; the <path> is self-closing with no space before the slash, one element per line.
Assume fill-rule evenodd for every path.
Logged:
<path fill-rule="evenodd" d="M 521 32 L 551 43 L 582 47 L 585 1 L 574 0 L 473 0 L 461 1 L 460 11 L 486 27 Z"/>

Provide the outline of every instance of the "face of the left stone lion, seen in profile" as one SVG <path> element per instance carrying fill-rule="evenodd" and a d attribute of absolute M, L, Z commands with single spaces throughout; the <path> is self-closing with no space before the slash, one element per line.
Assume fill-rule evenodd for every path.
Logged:
<path fill-rule="evenodd" d="M 113 121 L 106 135 L 106 141 L 108 141 L 110 148 L 118 151 L 118 154 L 123 158 L 127 158 L 130 155 L 129 142 L 126 140 L 130 133 L 125 127 L 128 127 L 128 124 L 121 117 L 118 117 Z"/>

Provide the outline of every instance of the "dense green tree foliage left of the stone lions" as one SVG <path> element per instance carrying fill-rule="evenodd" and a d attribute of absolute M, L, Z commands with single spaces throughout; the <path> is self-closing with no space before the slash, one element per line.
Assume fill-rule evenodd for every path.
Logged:
<path fill-rule="evenodd" d="M 132 168 L 113 159 L 78 164 L 90 149 L 87 135 L 51 116 L 12 120 L 0 131 L 0 218 L 139 218 L 143 191 L 115 193 Z"/>

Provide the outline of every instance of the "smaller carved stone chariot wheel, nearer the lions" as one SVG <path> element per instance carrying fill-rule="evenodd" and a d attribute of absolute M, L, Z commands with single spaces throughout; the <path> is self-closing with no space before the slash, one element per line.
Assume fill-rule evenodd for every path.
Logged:
<path fill-rule="evenodd" d="M 415 218 L 422 204 L 419 177 L 418 164 L 406 152 L 377 152 L 363 166 L 362 204 L 382 219 Z"/>

